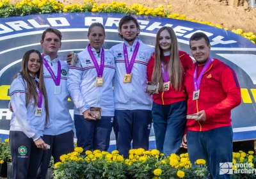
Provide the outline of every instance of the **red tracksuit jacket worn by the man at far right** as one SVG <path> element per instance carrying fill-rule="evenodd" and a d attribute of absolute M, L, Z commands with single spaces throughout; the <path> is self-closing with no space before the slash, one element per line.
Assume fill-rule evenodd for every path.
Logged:
<path fill-rule="evenodd" d="M 184 79 L 185 90 L 188 93 L 188 114 L 205 110 L 206 121 L 199 123 L 195 120 L 188 120 L 186 129 L 205 131 L 231 126 L 231 109 L 241 104 L 241 89 L 236 73 L 225 63 L 214 59 L 202 75 L 198 100 L 193 100 L 195 65 L 196 63 L 186 72 Z M 198 66 L 196 77 L 203 67 Z"/>

